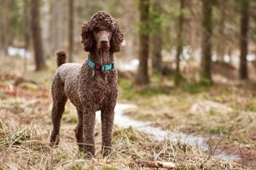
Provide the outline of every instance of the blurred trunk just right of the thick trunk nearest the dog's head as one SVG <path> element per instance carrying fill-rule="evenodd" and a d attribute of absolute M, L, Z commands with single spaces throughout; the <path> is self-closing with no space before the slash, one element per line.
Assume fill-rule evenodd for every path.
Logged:
<path fill-rule="evenodd" d="M 160 1 L 154 0 L 152 10 L 154 11 L 156 20 L 160 18 L 161 7 Z M 150 42 L 151 42 L 151 61 L 152 69 L 154 72 L 161 72 L 162 70 L 162 34 L 161 34 L 161 23 L 157 23 L 157 26 L 154 26 L 154 31 L 152 33 Z"/>

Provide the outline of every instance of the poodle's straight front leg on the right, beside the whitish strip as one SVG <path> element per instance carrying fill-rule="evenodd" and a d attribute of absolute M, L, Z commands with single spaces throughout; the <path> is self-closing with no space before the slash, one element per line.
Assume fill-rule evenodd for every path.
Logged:
<path fill-rule="evenodd" d="M 114 106 L 102 110 L 102 155 L 108 156 L 112 146 Z"/>

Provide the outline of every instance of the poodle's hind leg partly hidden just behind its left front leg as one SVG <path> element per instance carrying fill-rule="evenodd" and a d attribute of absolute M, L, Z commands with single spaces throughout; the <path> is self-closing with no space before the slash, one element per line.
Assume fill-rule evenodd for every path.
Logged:
<path fill-rule="evenodd" d="M 78 110 L 79 123 L 75 129 L 76 139 L 79 144 L 79 150 L 84 150 L 84 132 L 83 132 L 83 111 Z"/>

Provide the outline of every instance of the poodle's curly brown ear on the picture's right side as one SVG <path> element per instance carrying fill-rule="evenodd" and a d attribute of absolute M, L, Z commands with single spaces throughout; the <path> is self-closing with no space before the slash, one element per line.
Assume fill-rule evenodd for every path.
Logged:
<path fill-rule="evenodd" d="M 116 53 L 120 51 L 121 43 L 124 40 L 124 35 L 119 28 L 117 21 L 114 21 L 113 28 L 113 35 L 110 41 L 110 52 Z"/>

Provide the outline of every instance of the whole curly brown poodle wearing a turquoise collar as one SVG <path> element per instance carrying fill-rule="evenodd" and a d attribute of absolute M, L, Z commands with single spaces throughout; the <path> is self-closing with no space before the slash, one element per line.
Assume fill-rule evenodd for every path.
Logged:
<path fill-rule="evenodd" d="M 56 53 L 58 69 L 52 83 L 51 145 L 60 141 L 61 116 L 67 99 L 75 105 L 79 123 L 76 139 L 79 150 L 95 155 L 94 127 L 96 111 L 102 111 L 102 154 L 111 150 L 114 107 L 118 96 L 117 71 L 113 53 L 119 52 L 123 34 L 113 17 L 99 11 L 82 26 L 82 43 L 89 52 L 83 65 L 67 63 L 67 53 Z"/>

